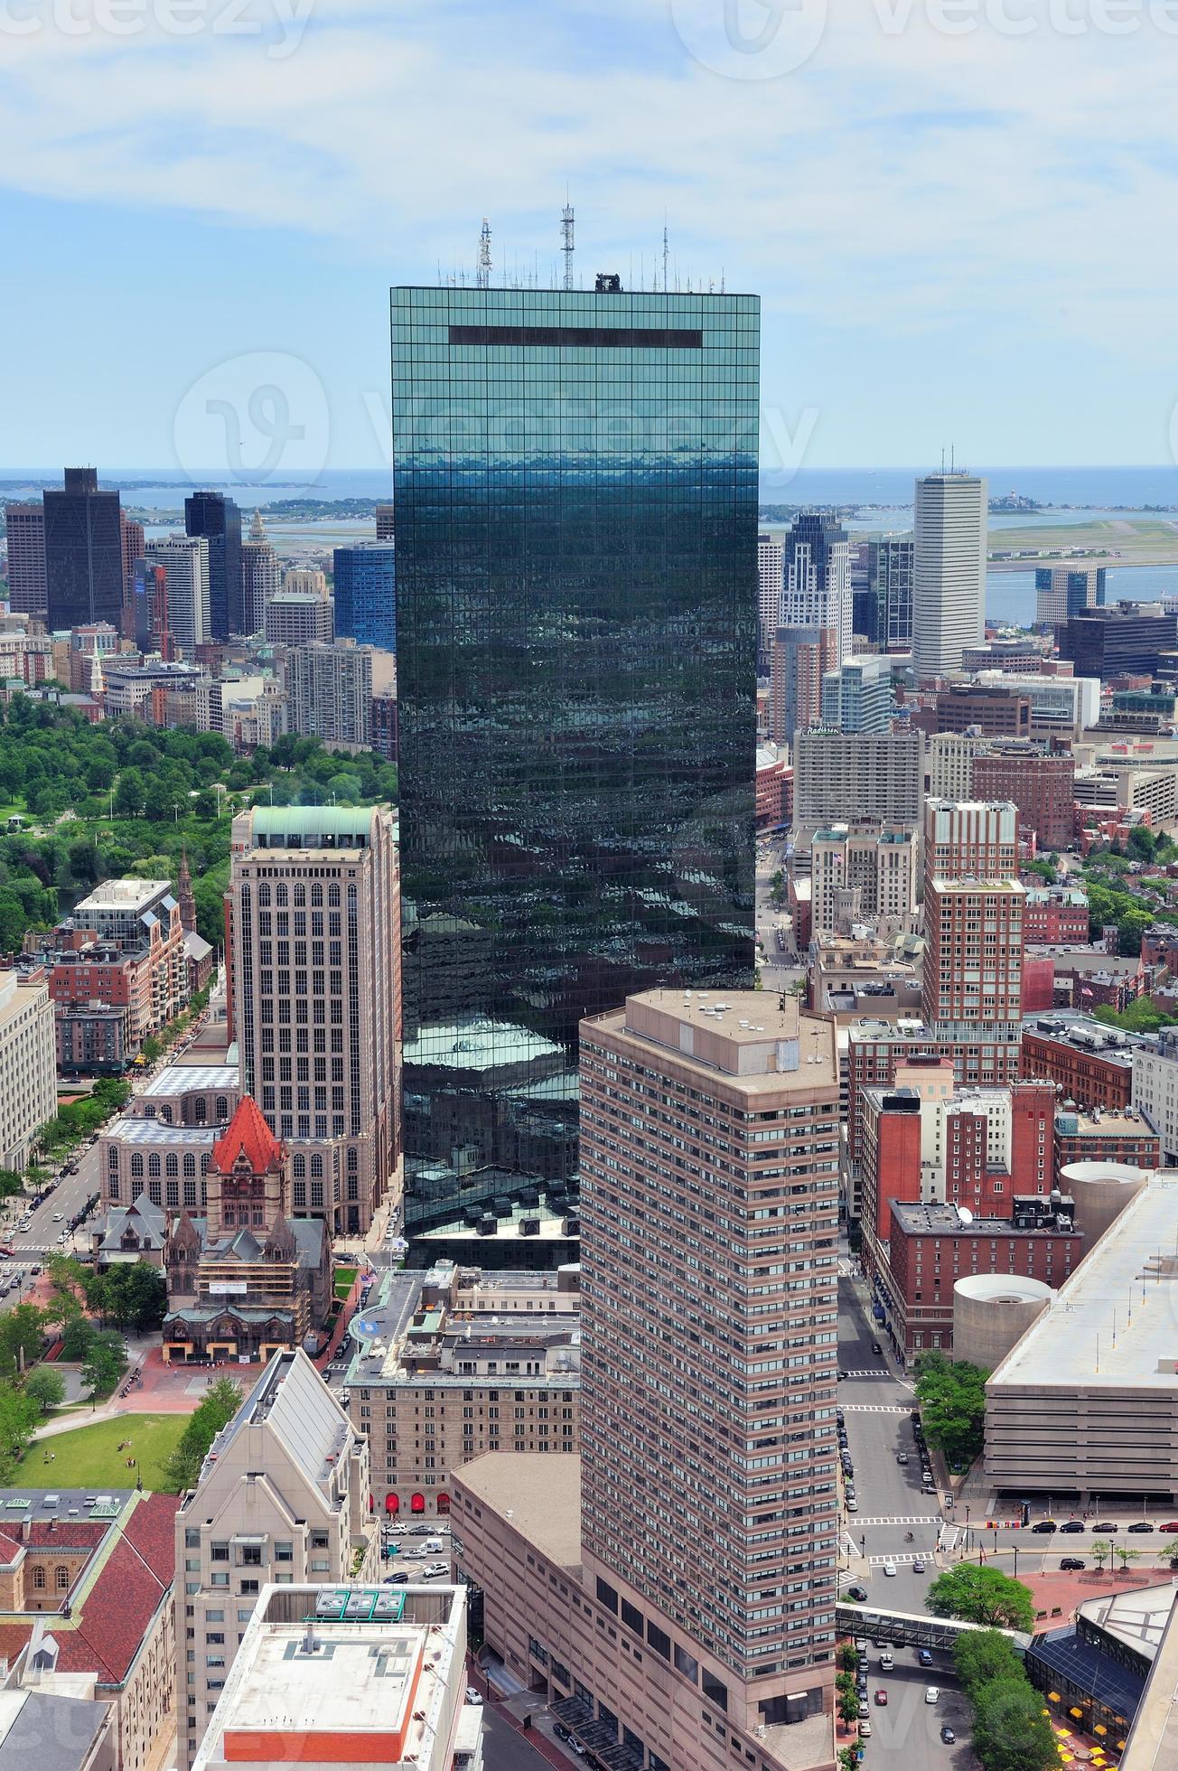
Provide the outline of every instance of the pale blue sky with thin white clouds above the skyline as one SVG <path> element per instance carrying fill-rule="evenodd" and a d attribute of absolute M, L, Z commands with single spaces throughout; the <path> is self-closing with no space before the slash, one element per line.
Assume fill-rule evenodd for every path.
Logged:
<path fill-rule="evenodd" d="M 769 452 L 1167 462 L 1178 0 L 0 0 L 0 462 L 388 455 L 388 285 L 763 298 Z M 303 421 L 305 420 L 305 421 Z M 772 466 L 769 460 L 765 466 Z M 1176 478 L 1178 496 L 1178 478 Z"/>

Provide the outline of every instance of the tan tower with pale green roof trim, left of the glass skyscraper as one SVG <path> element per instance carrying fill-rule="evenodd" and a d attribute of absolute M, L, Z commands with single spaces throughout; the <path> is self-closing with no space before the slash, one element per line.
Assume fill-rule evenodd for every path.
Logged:
<path fill-rule="evenodd" d="M 234 818 L 241 1087 L 291 1146 L 296 1217 L 365 1234 L 400 1195 L 400 887 L 386 808 Z"/>

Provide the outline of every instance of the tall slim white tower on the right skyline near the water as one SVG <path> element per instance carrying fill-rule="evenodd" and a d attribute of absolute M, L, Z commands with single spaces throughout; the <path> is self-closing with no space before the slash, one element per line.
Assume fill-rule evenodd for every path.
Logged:
<path fill-rule="evenodd" d="M 985 634 L 987 482 L 930 473 L 916 482 L 912 668 L 918 677 L 960 671 L 962 652 Z"/>

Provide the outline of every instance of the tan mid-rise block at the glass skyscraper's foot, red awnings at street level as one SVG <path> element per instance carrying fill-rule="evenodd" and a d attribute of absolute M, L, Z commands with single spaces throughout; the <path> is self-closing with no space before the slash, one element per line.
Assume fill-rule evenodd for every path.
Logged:
<path fill-rule="evenodd" d="M 386 1514 L 445 1516 L 452 1472 L 485 1450 L 581 1449 L 576 1266 L 390 1275 L 353 1334 L 347 1411 Z"/>

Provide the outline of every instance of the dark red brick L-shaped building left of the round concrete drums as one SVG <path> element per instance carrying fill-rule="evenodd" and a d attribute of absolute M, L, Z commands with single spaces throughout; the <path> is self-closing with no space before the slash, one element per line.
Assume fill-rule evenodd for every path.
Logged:
<path fill-rule="evenodd" d="M 903 1357 L 914 1358 L 926 1348 L 953 1350 L 958 1279 L 1011 1273 L 1061 1286 L 1084 1256 L 1070 1204 L 1070 1199 L 1015 1201 L 1006 1217 L 969 1224 L 951 1204 L 893 1206 L 889 1259 L 873 1275 L 873 1295 Z"/>

